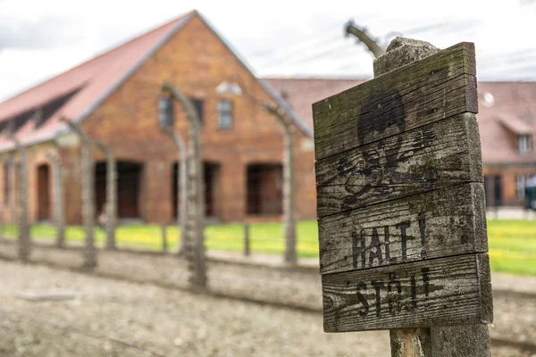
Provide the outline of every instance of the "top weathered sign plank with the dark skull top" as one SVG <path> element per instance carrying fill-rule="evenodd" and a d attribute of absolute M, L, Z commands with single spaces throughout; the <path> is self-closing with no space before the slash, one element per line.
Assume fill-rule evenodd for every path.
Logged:
<path fill-rule="evenodd" d="M 473 57 L 461 43 L 313 104 L 316 160 L 478 112 Z"/>

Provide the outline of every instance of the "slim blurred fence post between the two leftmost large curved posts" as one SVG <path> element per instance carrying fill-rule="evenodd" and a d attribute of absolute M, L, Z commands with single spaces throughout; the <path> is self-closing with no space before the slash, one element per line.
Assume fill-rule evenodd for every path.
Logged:
<path fill-rule="evenodd" d="M 54 195 L 54 224 L 56 226 L 56 246 L 63 248 L 65 245 L 65 210 L 63 205 L 63 176 L 62 159 L 59 150 L 47 152 L 52 162 L 52 185 Z"/>

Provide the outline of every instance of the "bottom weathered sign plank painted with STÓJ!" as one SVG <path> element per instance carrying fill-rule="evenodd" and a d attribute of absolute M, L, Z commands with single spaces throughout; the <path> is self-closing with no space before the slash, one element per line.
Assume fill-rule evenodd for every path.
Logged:
<path fill-rule="evenodd" d="M 490 323 L 489 271 L 487 254 L 465 254 L 322 275 L 324 331 Z"/>

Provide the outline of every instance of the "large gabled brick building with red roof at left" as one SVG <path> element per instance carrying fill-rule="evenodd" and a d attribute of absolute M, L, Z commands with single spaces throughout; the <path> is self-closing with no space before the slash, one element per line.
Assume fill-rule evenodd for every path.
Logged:
<path fill-rule="evenodd" d="M 286 108 L 296 133 L 297 217 L 314 217 L 312 130 L 264 80 L 255 78 L 202 15 L 189 12 L 0 104 L 4 220 L 15 219 L 17 205 L 10 160 L 16 154 L 6 137 L 11 131 L 28 147 L 30 220 L 52 215 L 52 170 L 46 152 L 57 148 L 67 220 L 80 222 L 80 142 L 60 121 L 65 116 L 113 148 L 120 219 L 171 221 L 176 214 L 178 154 L 158 124 L 163 82 L 180 87 L 201 116 L 207 215 L 222 221 L 279 218 L 283 132 L 247 95 L 216 93 L 220 83 L 236 78 L 255 98 Z M 173 112 L 174 128 L 186 138 L 185 113 L 178 104 Z M 93 154 L 98 214 L 105 200 L 105 158 L 97 150 Z"/>

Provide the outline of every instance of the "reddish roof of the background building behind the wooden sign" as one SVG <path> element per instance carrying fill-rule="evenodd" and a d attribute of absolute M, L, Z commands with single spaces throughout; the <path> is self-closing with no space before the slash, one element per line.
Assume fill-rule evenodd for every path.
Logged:
<path fill-rule="evenodd" d="M 268 78 L 266 81 L 313 129 L 312 104 L 355 87 L 367 79 Z M 536 142 L 536 82 L 478 82 L 479 113 L 476 115 L 484 163 L 536 162 L 532 154 L 519 154 L 515 135 L 531 132 Z M 505 124 L 507 123 L 507 124 Z"/>

